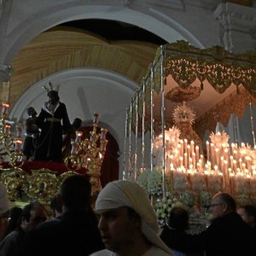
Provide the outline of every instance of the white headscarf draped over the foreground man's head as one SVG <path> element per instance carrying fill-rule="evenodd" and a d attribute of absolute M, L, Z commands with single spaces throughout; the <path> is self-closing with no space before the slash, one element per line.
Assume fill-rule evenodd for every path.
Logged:
<path fill-rule="evenodd" d="M 166 253 L 173 255 L 172 250 L 158 235 L 157 218 L 148 199 L 148 195 L 137 183 L 119 180 L 108 183 L 96 199 L 96 212 L 118 207 L 130 207 L 142 218 L 143 235 Z"/>

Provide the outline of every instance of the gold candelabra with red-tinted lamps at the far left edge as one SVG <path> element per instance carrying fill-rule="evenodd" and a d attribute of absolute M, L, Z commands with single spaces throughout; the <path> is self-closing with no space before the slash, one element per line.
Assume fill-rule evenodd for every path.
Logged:
<path fill-rule="evenodd" d="M 23 165 L 25 156 L 22 154 L 22 138 L 21 125 L 16 125 L 16 134 L 11 132 L 11 122 L 7 120 L 9 104 L 2 103 L 2 113 L 0 120 L 0 154 L 1 161 L 4 160 L 4 156 L 8 156 L 9 164 L 13 167 L 20 167 Z"/>

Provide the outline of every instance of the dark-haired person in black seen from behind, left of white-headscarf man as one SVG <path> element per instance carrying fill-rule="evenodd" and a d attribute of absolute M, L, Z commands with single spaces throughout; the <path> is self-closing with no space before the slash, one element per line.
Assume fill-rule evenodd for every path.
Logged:
<path fill-rule="evenodd" d="M 28 233 L 19 256 L 86 256 L 104 248 L 90 207 L 91 186 L 85 175 L 67 177 L 61 184 L 62 216 L 55 224 Z"/>

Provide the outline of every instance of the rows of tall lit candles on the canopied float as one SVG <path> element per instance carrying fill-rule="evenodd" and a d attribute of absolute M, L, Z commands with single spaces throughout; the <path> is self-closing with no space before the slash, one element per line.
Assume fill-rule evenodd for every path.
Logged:
<path fill-rule="evenodd" d="M 244 143 L 239 147 L 236 143 L 207 142 L 205 158 L 194 141 L 172 141 L 166 144 L 165 160 L 166 177 L 172 177 L 174 190 L 225 190 L 256 196 L 256 148 Z"/>

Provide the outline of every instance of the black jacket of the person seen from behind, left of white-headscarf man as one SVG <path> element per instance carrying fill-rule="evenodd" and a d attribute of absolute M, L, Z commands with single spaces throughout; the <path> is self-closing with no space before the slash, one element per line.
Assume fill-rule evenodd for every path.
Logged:
<path fill-rule="evenodd" d="M 61 221 L 28 233 L 20 256 L 90 255 L 104 245 L 91 212 L 65 212 Z"/>

